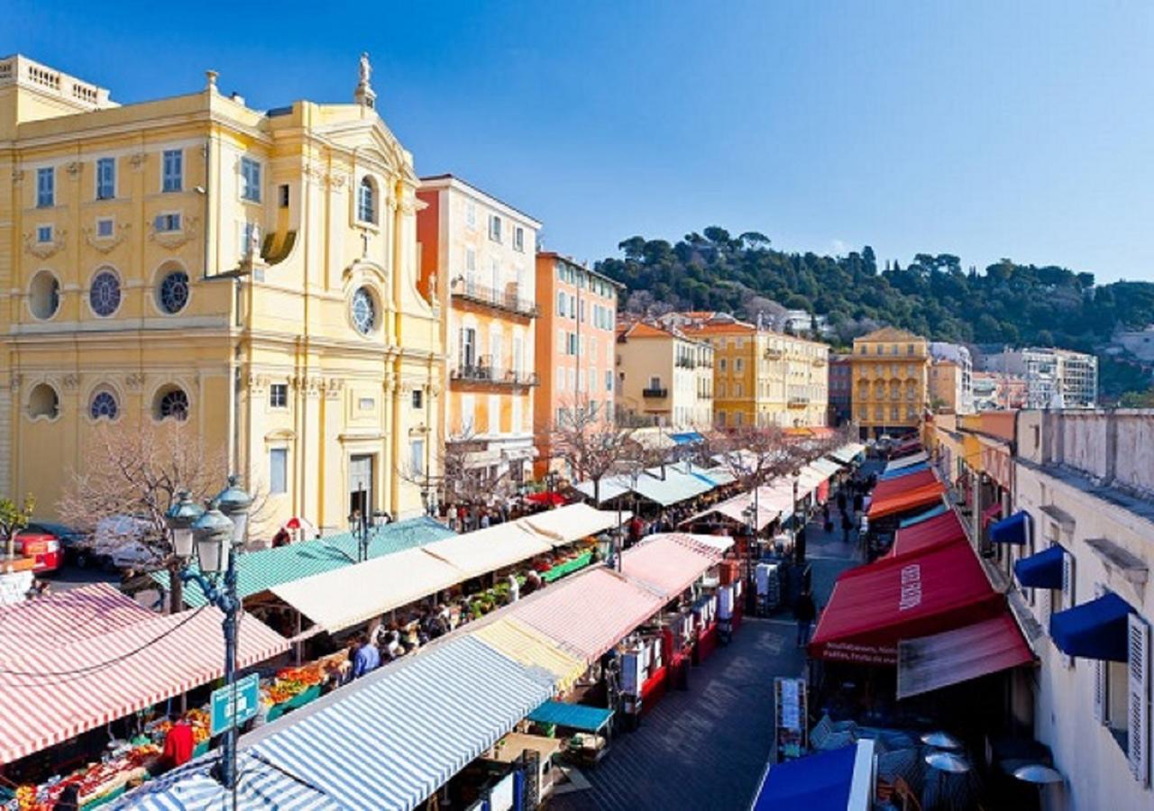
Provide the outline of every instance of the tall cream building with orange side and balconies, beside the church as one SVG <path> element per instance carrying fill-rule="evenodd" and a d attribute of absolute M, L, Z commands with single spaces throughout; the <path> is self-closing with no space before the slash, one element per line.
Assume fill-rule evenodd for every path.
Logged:
<path fill-rule="evenodd" d="M 520 480 L 533 458 L 541 224 L 451 174 L 422 178 L 417 196 L 420 285 L 440 307 L 447 355 L 445 441 L 469 443 L 473 467 Z"/>

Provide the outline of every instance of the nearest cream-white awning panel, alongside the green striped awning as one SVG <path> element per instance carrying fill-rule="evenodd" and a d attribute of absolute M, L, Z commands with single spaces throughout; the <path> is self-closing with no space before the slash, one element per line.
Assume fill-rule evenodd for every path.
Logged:
<path fill-rule="evenodd" d="M 324 630 L 336 632 L 470 577 L 425 548 L 414 548 L 282 583 L 270 591 Z"/>

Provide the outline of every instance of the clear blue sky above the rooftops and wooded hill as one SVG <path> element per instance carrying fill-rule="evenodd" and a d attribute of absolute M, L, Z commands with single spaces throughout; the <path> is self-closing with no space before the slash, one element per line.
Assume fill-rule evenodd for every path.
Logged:
<path fill-rule="evenodd" d="M 715 224 L 1154 279 L 1154 3 L 270 8 L 9 0 L 0 53 L 120 103 L 211 67 L 263 108 L 349 100 L 368 51 L 418 172 L 469 179 L 579 258 Z"/>

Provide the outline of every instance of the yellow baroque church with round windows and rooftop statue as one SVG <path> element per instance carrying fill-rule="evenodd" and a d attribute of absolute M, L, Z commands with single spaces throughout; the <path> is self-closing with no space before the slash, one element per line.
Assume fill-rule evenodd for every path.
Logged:
<path fill-rule="evenodd" d="M 211 72 L 119 106 L 0 60 L 0 493 L 51 517 L 100 426 L 183 420 L 268 494 L 268 533 L 421 511 L 441 316 L 369 74 L 261 112 Z"/>

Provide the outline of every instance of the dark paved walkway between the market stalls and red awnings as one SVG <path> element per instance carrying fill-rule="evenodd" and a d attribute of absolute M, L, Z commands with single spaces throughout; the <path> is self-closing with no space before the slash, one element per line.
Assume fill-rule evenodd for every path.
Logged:
<path fill-rule="evenodd" d="M 855 563 L 840 531 L 826 536 L 811 524 L 807 536 L 814 593 L 829 600 L 837 575 Z M 621 734 L 597 768 L 592 787 L 556 798 L 561 811 L 584 809 L 743 809 L 773 741 L 773 677 L 801 675 L 804 656 L 788 619 L 747 619 L 728 647 L 690 674 L 688 692 L 674 691 Z"/>

